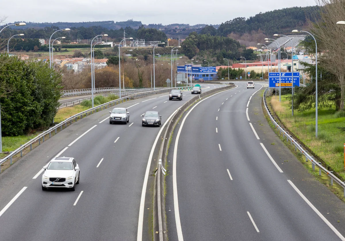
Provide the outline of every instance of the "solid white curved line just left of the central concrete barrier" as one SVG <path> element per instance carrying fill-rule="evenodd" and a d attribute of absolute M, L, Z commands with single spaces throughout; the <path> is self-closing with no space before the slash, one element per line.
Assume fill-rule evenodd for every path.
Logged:
<path fill-rule="evenodd" d="M 182 106 L 178 107 L 170 116 L 169 118 L 166 120 L 166 122 L 162 125 L 162 127 L 160 128 L 155 142 L 152 145 L 151 148 L 151 152 L 150 152 L 150 156 L 149 159 L 147 161 L 147 166 L 146 166 L 146 171 L 145 171 L 145 177 L 144 177 L 144 183 L 142 184 L 142 190 L 141 190 L 141 198 L 140 198 L 140 207 L 139 207 L 139 218 L 138 218 L 138 232 L 137 232 L 137 241 L 142 241 L 142 226 L 144 223 L 144 205 L 145 205 L 145 195 L 146 195 L 146 187 L 147 187 L 147 181 L 148 181 L 148 177 L 150 174 L 150 166 L 151 166 L 151 161 L 152 161 L 152 157 L 153 157 L 153 153 L 155 151 L 158 139 L 160 138 L 160 134 L 162 133 L 164 127 L 167 125 L 167 123 L 169 122 L 169 120 L 171 119 L 171 117 L 181 108 Z M 189 113 L 189 112 L 188 112 Z M 187 115 L 188 115 L 187 113 Z"/>

